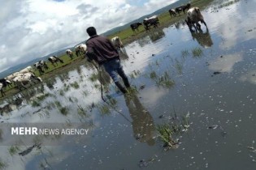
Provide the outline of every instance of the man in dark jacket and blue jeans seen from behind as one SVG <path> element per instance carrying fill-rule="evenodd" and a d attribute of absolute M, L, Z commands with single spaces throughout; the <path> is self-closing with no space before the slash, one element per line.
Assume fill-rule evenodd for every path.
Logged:
<path fill-rule="evenodd" d="M 114 80 L 115 85 L 119 87 L 119 90 L 127 93 L 125 87 L 130 87 L 130 83 L 128 82 L 128 77 L 124 74 L 123 66 L 120 64 L 119 53 L 114 45 L 112 45 L 111 40 L 105 36 L 98 36 L 96 29 L 93 27 L 87 28 L 86 32 L 90 36 L 86 41 L 86 55 L 89 57 L 89 60 L 98 62 L 100 66 L 103 65 L 106 72 Z M 119 83 L 118 74 L 123 79 L 125 87 Z"/>

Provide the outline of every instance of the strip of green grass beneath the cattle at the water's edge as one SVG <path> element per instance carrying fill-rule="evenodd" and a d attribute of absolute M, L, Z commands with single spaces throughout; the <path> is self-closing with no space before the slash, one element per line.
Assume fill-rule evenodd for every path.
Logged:
<path fill-rule="evenodd" d="M 191 6 L 197 6 L 201 10 L 203 10 L 210 2 L 213 2 L 214 0 L 193 0 L 191 2 Z M 180 15 L 177 15 L 176 17 L 171 17 L 169 12 L 166 11 L 161 15 L 158 15 L 159 23 L 160 25 L 158 28 L 152 28 L 150 32 L 154 32 L 154 29 L 163 29 L 169 27 L 171 24 L 176 23 L 177 21 L 180 21 L 181 19 L 185 19 L 185 16 L 182 13 Z M 137 40 L 141 37 L 150 35 L 150 32 L 146 32 L 145 28 L 143 26 L 140 26 L 139 32 L 132 32 L 131 28 L 126 28 L 120 32 L 116 32 L 115 34 L 109 35 L 108 38 L 112 38 L 114 36 L 119 36 L 122 40 L 124 45 L 127 45 L 128 43 L 131 43 L 134 40 Z M 38 70 L 35 70 L 35 74 L 37 76 L 40 76 L 41 79 L 46 80 L 50 77 L 54 76 L 55 74 L 61 74 L 64 72 L 67 72 L 67 70 L 70 70 L 72 68 L 75 68 L 76 66 L 79 66 L 81 64 L 88 64 L 85 60 L 85 57 L 81 55 L 80 57 L 73 57 L 71 60 L 70 57 L 67 56 L 66 53 L 63 53 L 63 55 L 59 56 L 63 60 L 63 64 L 59 63 L 58 66 L 53 66 L 50 62 L 47 62 L 47 65 L 49 66 L 49 70 L 46 70 L 45 74 L 40 75 Z M 18 89 L 13 87 L 7 87 L 5 89 L 6 95 L 14 95 L 15 93 L 19 92 Z M 7 97 L 5 96 L 5 97 Z"/>

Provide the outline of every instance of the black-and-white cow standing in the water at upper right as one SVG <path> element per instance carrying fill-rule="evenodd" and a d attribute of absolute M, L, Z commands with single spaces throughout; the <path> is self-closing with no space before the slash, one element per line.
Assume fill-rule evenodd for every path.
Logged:
<path fill-rule="evenodd" d="M 201 25 L 199 24 L 199 21 L 201 23 L 204 23 L 207 28 L 206 22 L 203 19 L 203 16 L 199 8 L 198 7 L 190 8 L 189 11 L 187 12 L 187 19 L 185 19 L 185 22 L 189 26 L 189 30 L 191 32 L 193 32 L 192 27 L 195 28 L 195 32 L 197 32 L 197 30 L 201 30 Z"/>

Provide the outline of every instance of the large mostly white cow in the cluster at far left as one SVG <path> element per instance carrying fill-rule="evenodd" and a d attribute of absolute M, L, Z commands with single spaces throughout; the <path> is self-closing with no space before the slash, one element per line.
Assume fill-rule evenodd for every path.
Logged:
<path fill-rule="evenodd" d="M 21 91 L 21 87 L 24 87 L 25 89 L 27 89 L 27 87 L 25 87 L 25 83 L 31 83 L 31 82 L 35 83 L 34 80 L 37 80 L 38 82 L 42 82 L 41 78 L 37 77 L 33 73 L 19 74 L 15 77 L 15 79 L 13 79 L 13 81 L 15 82 L 17 87 L 20 89 L 20 91 Z"/>

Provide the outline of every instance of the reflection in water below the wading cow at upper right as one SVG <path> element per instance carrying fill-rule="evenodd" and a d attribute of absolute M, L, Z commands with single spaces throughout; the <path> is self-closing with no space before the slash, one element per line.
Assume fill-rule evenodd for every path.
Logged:
<path fill-rule="evenodd" d="M 203 32 L 202 30 L 199 30 L 199 32 L 191 32 L 191 36 L 193 37 L 193 40 L 197 40 L 197 43 L 203 48 L 208 48 L 213 45 L 208 28 L 206 29 L 206 32 Z"/>

